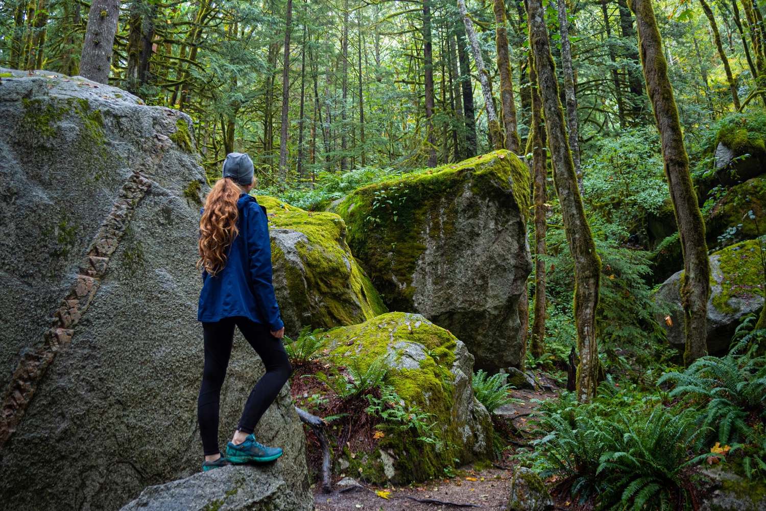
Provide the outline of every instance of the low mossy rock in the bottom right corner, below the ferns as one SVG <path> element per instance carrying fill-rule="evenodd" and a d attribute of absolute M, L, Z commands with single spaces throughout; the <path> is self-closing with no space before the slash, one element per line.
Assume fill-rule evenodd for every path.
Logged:
<path fill-rule="evenodd" d="M 724 465 L 702 470 L 708 478 L 700 511 L 766 511 L 766 486 Z"/>

